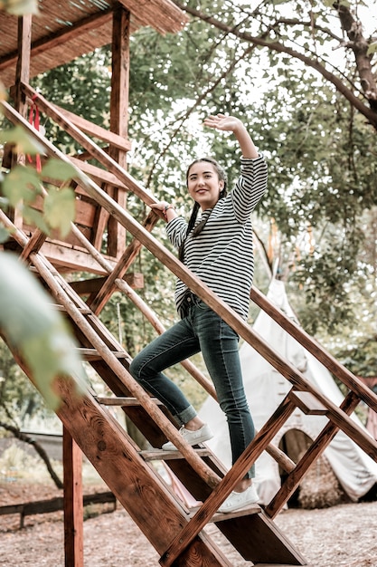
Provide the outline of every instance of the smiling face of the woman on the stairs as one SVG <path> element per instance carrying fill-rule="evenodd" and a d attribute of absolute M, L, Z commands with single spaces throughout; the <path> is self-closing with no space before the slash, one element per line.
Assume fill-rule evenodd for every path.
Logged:
<path fill-rule="evenodd" d="M 224 180 L 219 177 L 219 172 L 211 162 L 195 161 L 189 168 L 188 192 L 203 211 L 216 205 L 223 187 Z"/>

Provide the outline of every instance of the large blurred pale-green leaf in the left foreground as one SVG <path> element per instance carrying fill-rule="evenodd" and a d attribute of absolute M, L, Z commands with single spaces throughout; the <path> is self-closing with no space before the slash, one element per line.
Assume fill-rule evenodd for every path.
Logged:
<path fill-rule="evenodd" d="M 5 340 L 32 370 L 33 380 L 52 408 L 60 399 L 54 381 L 72 377 L 76 390 L 85 388 L 85 373 L 76 344 L 51 299 L 15 256 L 0 254 L 0 327 Z"/>

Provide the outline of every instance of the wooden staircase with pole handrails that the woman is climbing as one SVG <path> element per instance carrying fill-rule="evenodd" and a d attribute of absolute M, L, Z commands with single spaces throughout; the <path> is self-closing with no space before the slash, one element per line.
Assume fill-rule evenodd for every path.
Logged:
<path fill-rule="evenodd" d="M 136 193 L 146 205 L 155 202 L 155 199 L 147 194 L 135 179 L 120 168 L 117 162 L 109 158 L 105 151 L 99 149 L 61 111 L 45 101 L 41 95 L 36 95 L 28 85 L 22 85 L 22 88 L 27 96 L 37 96 L 41 109 L 56 120 L 74 139 L 80 140 L 90 155 L 108 168 L 108 172 L 116 176 L 119 182 L 127 187 L 127 190 Z M 2 104 L 5 116 L 15 124 L 22 124 L 34 138 L 39 139 L 48 155 L 58 156 L 65 161 L 69 160 L 50 142 L 43 139 L 36 130 L 33 130 L 9 104 L 6 102 Z M 76 161 L 74 165 L 77 167 Z M 287 360 L 281 359 L 272 351 L 269 345 L 250 329 L 249 325 L 243 322 L 237 314 L 231 312 L 225 303 L 221 302 L 193 274 L 185 270 L 174 255 L 171 255 L 150 235 L 157 220 L 156 214 L 151 213 L 141 226 L 79 169 L 77 169 L 75 183 L 81 189 L 83 188 L 90 197 L 96 199 L 99 206 L 103 207 L 108 215 L 113 216 L 134 236 L 134 240 L 119 257 L 118 264 L 114 266 L 99 254 L 97 248 L 90 244 L 77 226 L 72 225 L 72 232 L 80 240 L 80 244 L 107 274 L 96 292 L 90 295 L 87 303 L 74 289 L 75 285 L 67 283 L 43 254 L 45 236 L 38 231 L 35 231 L 30 237 L 26 236 L 22 228 L 15 226 L 13 220 L 0 211 L 0 222 L 12 229 L 11 238 L 16 245 L 16 251 L 41 278 L 52 295 L 55 308 L 63 312 L 71 322 L 83 359 L 88 360 L 113 392 L 110 399 L 101 399 L 88 387 L 79 399 L 75 395 L 73 378 L 71 381 L 59 380 L 62 404 L 57 413 L 64 428 L 69 431 L 82 452 L 116 495 L 119 503 L 125 507 L 127 513 L 156 548 L 157 553 L 160 554 L 160 564 L 193 567 L 198 565 L 231 566 L 219 547 L 205 532 L 206 524 L 213 522 L 240 555 L 254 565 L 305 565 L 305 559 L 278 529 L 273 518 L 287 503 L 308 467 L 323 453 L 339 429 L 343 429 L 368 455 L 377 460 L 376 441 L 358 428 L 349 417 L 361 399 L 377 410 L 377 397 L 323 351 L 305 332 L 299 330 L 297 325 L 289 322 L 262 294 L 254 290 L 252 299 L 346 384 L 349 393 L 342 406 L 338 408 L 332 400 L 327 399 L 316 390 Z M 128 297 L 137 303 L 141 311 L 153 322 L 157 332 L 164 331 L 156 320 L 156 315 L 148 310 L 123 279 L 141 245 L 146 245 L 174 274 L 183 279 L 194 293 L 221 314 L 221 317 L 229 322 L 243 339 L 249 341 L 292 384 L 287 397 L 228 472 L 207 447 L 186 446 L 178 435 L 166 408 L 156 402 L 156 399 L 150 398 L 145 390 L 132 379 L 128 372 L 131 360 L 129 354 L 99 320 L 99 312 L 117 289 L 127 293 Z M 33 380 L 33 376 L 26 368 L 19 353 L 14 351 L 14 357 Z M 215 396 L 212 384 L 194 369 L 191 363 L 184 362 L 184 367 L 212 396 Z M 108 410 L 108 406 L 114 404 L 123 408 L 127 418 L 146 437 L 153 449 L 142 450 L 137 446 L 135 440 L 129 437 L 127 431 L 119 425 Z M 277 447 L 273 447 L 271 441 L 297 407 L 306 413 L 325 415 L 328 423 L 306 454 L 295 465 Z M 166 439 L 172 440 L 179 448 L 179 452 L 162 451 L 160 447 Z M 250 465 L 264 450 L 268 450 L 287 472 L 287 479 L 277 495 L 265 509 L 259 505 L 252 505 L 239 513 L 217 513 L 217 509 L 231 493 L 233 486 L 245 475 Z M 195 510 L 187 508 L 184 502 L 174 494 L 172 488 L 166 484 L 164 477 L 159 473 L 158 466 L 154 465 L 155 461 L 164 461 L 165 465 L 193 495 L 193 498 L 202 501 L 203 505 Z"/>

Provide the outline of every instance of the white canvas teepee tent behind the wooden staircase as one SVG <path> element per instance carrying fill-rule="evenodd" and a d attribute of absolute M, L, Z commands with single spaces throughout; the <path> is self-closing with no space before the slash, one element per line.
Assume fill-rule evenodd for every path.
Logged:
<path fill-rule="evenodd" d="M 287 301 L 283 282 L 276 279 L 272 280 L 267 296 L 287 317 L 295 320 L 294 312 Z M 341 403 L 344 397 L 329 371 L 296 339 L 285 332 L 277 322 L 274 322 L 269 315 L 260 312 L 253 329 L 269 343 L 270 347 L 278 351 L 283 358 L 289 360 L 297 370 L 300 370 L 307 380 L 313 382 L 317 389 L 324 392 L 337 405 Z M 240 361 L 251 415 L 255 427 L 259 429 L 278 407 L 291 388 L 291 384 L 246 342 L 240 347 Z M 209 447 L 220 458 L 224 466 L 231 466 L 228 427 L 217 402 L 211 397 L 206 399 L 200 411 L 200 416 L 215 432 L 215 436 L 208 442 Z M 359 426 L 363 427 L 355 414 L 353 414 L 353 419 Z M 297 409 L 287 420 L 285 426 L 280 429 L 273 443 L 278 446 L 281 438 L 291 430 L 302 431 L 311 439 L 315 439 L 326 423 L 327 418 L 325 417 L 306 416 Z M 343 486 L 344 492 L 353 501 L 357 501 L 377 483 L 377 463 L 342 431 L 325 449 L 325 457 L 340 485 Z M 266 452 L 257 460 L 255 482 L 261 503 L 268 504 L 278 491 L 280 476 L 278 464 Z"/>

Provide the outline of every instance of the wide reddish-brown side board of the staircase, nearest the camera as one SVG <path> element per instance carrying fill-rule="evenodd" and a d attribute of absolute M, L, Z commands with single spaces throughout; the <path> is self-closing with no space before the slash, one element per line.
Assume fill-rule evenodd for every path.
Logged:
<path fill-rule="evenodd" d="M 18 353 L 14 352 L 14 356 L 26 374 L 33 378 Z M 57 380 L 56 388 L 63 400 L 57 414 L 64 426 L 157 552 L 163 553 L 174 533 L 189 520 L 187 514 L 174 503 L 151 467 L 138 456 L 127 434 L 120 434 L 118 423 L 103 412 L 89 392 L 79 398 L 67 379 Z M 206 534 L 196 538 L 177 565 L 231 567 Z"/>

